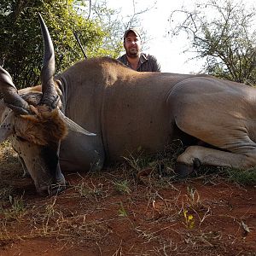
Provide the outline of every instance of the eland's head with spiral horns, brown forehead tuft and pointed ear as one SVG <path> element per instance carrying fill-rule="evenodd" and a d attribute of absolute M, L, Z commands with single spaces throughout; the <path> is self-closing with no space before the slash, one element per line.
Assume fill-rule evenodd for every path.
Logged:
<path fill-rule="evenodd" d="M 32 177 L 38 193 L 55 194 L 65 186 L 59 165 L 61 140 L 68 129 L 92 134 L 61 113 L 55 80 L 55 53 L 47 26 L 39 16 L 44 38 L 42 86 L 17 90 L 9 73 L 0 67 L 0 142 L 9 138 L 19 154 L 25 172 Z"/>

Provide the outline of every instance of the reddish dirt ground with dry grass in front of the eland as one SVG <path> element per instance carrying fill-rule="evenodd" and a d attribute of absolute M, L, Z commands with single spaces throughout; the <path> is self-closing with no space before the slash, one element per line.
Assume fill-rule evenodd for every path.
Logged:
<path fill-rule="evenodd" d="M 123 165 L 65 173 L 66 190 L 40 197 L 9 146 L 0 163 L 1 256 L 256 255 L 255 184 Z"/>

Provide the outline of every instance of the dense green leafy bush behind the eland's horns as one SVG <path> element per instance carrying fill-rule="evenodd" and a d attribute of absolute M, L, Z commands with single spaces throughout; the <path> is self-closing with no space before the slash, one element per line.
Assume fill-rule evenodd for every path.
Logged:
<path fill-rule="evenodd" d="M 86 19 L 75 8 L 75 3 L 85 6 L 85 1 L 0 0 L 0 3 L 0 65 L 9 71 L 18 89 L 39 83 L 44 44 L 38 13 L 54 42 L 56 73 L 84 58 L 73 32 L 79 35 L 89 57 L 113 55 L 113 49 L 102 47 L 108 32 L 100 22 Z"/>

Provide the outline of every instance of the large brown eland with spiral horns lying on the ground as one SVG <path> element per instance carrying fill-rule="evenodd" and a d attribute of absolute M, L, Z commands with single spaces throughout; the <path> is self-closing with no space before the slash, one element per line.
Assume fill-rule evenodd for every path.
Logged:
<path fill-rule="evenodd" d="M 18 91 L 0 67 L 0 141 L 9 138 L 38 193 L 65 186 L 62 172 L 101 170 L 139 147 L 155 153 L 177 139 L 188 145 L 177 176 L 199 165 L 256 165 L 256 89 L 210 76 L 137 73 L 108 57 L 54 77 L 54 47 L 39 20 L 42 85 Z"/>

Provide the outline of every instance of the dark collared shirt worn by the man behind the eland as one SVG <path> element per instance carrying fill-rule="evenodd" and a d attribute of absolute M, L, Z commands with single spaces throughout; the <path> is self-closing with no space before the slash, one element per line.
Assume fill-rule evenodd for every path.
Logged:
<path fill-rule="evenodd" d="M 123 62 L 127 67 L 130 67 L 126 55 L 122 55 L 118 58 L 119 61 Z M 154 57 L 154 55 L 147 55 L 142 53 L 137 66 L 139 72 L 160 72 L 160 64 Z"/>

